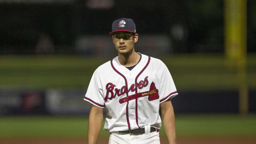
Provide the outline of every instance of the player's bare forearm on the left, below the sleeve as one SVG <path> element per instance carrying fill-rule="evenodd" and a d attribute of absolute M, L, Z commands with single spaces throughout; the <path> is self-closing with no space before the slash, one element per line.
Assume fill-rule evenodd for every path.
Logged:
<path fill-rule="evenodd" d="M 88 144 L 96 144 L 103 120 L 103 108 L 92 105 L 88 123 Z"/>

